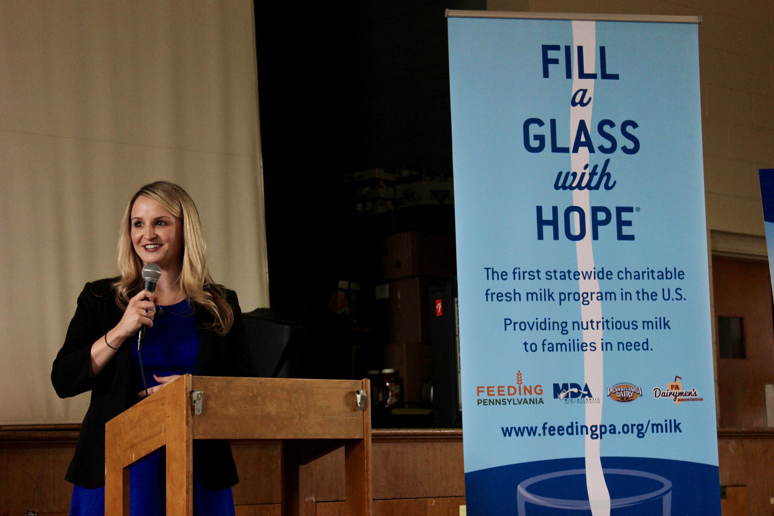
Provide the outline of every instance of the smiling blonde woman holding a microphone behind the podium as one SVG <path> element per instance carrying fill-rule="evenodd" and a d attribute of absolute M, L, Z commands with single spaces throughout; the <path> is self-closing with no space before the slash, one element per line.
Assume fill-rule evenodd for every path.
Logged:
<path fill-rule="evenodd" d="M 122 221 L 121 275 L 87 283 L 78 296 L 51 371 L 61 398 L 91 391 L 65 476 L 74 484 L 71 516 L 104 514 L 104 424 L 145 396 L 135 345 L 142 326 L 149 395 L 186 373 L 254 375 L 237 296 L 212 281 L 205 248 L 188 193 L 166 181 L 143 186 Z M 161 268 L 154 293 L 142 290 L 148 263 Z M 164 478 L 163 450 L 132 466 L 132 516 L 165 514 Z M 238 481 L 228 441 L 194 442 L 194 514 L 233 516 Z"/>

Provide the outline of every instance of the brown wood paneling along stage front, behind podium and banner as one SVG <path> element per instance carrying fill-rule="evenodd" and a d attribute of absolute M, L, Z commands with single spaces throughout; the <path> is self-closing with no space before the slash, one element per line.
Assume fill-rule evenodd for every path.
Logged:
<path fill-rule="evenodd" d="M 0 429 L 0 514 L 67 514 L 72 485 L 63 477 L 76 440 L 73 431 Z M 235 442 L 233 450 L 241 479 L 236 514 L 279 516 L 279 443 Z M 718 454 L 721 484 L 747 488 L 751 516 L 772 516 L 774 429 L 721 429 Z M 375 430 L 373 455 L 375 516 L 457 516 L 464 504 L 461 430 Z M 344 514 L 343 449 L 302 466 L 300 490 L 304 516 Z M 741 504 L 739 491 L 732 496 Z"/>

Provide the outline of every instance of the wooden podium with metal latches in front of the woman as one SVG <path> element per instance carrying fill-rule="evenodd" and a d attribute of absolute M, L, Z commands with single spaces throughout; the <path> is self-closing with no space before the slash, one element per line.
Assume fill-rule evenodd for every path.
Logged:
<path fill-rule="evenodd" d="M 129 466 L 166 448 L 166 514 L 194 510 L 194 439 L 282 441 L 282 514 L 297 516 L 299 466 L 345 447 L 348 516 L 371 516 L 368 380 L 186 374 L 105 425 L 105 514 L 129 515 Z"/>

